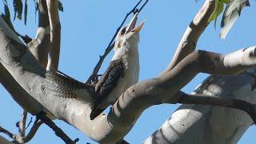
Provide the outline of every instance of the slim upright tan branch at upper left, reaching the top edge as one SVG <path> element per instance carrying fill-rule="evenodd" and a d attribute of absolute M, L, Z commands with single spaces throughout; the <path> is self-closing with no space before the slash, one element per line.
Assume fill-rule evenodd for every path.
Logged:
<path fill-rule="evenodd" d="M 58 70 L 61 45 L 61 23 L 58 18 L 58 0 L 46 0 L 50 22 L 50 56 L 47 70 Z"/>

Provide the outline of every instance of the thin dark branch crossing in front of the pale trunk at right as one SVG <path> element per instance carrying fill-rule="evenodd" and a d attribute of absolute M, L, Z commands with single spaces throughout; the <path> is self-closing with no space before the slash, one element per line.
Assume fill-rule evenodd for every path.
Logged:
<path fill-rule="evenodd" d="M 201 94 L 185 94 L 181 93 L 181 98 L 179 98 L 178 103 L 182 104 L 201 104 L 210 106 L 224 106 L 229 108 L 234 108 L 238 110 L 243 110 L 250 115 L 250 118 L 254 121 L 256 125 L 256 105 L 251 104 L 240 99 L 234 98 L 219 98 L 216 96 L 201 95 Z"/>

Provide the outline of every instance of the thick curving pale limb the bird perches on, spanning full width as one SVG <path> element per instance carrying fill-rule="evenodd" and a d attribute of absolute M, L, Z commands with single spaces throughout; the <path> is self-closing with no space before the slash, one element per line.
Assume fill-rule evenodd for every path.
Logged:
<path fill-rule="evenodd" d="M 149 106 L 176 102 L 175 94 L 198 72 L 237 74 L 256 64 L 255 47 L 238 50 L 228 56 L 206 51 L 194 52 L 166 74 L 131 86 L 108 115 L 102 114 L 90 121 L 92 99 L 89 93 L 81 89 L 77 91 L 79 100 L 61 98 L 58 84 L 47 78 L 46 71 L 38 65 L 34 56 L 23 49 L 25 48 L 18 42 L 0 32 L 0 62 L 18 84 L 42 104 L 43 110 L 49 110 L 56 118 L 69 122 L 90 138 L 103 143 L 118 142 L 123 138 L 142 111 Z M 230 61 L 236 62 L 236 65 Z M 190 70 L 190 74 L 187 70 Z"/>

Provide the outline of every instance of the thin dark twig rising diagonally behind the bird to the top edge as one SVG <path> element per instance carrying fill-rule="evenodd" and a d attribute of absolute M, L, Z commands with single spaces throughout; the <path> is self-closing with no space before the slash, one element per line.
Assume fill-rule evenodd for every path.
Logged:
<path fill-rule="evenodd" d="M 141 12 L 141 10 L 144 8 L 144 6 L 146 6 L 146 3 L 148 2 L 148 0 L 146 0 L 146 2 L 143 3 L 143 5 L 141 6 L 140 9 L 138 9 L 138 5 L 142 2 L 142 0 L 140 0 L 132 10 L 130 10 L 129 13 L 126 14 L 126 17 L 122 20 L 122 23 L 120 26 L 118 26 L 118 29 L 115 31 L 114 36 L 111 38 L 109 45 L 106 47 L 106 50 L 104 52 L 104 54 L 102 56 L 99 56 L 99 60 L 96 66 L 94 66 L 94 70 L 92 72 L 92 74 L 90 74 L 90 77 L 87 79 L 86 83 L 90 83 L 93 82 L 95 80 L 95 78 L 98 75 L 98 70 L 101 68 L 102 63 L 104 62 L 104 59 L 106 58 L 107 54 L 110 53 L 110 51 L 114 48 L 114 38 L 117 36 L 118 31 L 122 28 L 123 24 L 126 22 L 126 19 L 128 18 L 128 16 L 132 13 L 135 12 Z"/>

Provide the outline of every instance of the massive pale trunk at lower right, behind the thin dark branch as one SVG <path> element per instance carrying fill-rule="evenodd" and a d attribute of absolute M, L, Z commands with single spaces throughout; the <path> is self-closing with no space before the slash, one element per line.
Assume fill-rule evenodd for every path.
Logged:
<path fill-rule="evenodd" d="M 225 77 L 212 75 L 194 93 L 256 103 L 256 91 L 251 91 L 251 82 L 252 78 L 246 73 Z M 242 110 L 182 105 L 144 143 L 237 143 L 252 124 L 249 115 Z"/>

